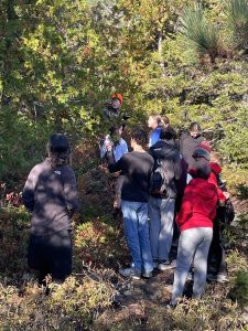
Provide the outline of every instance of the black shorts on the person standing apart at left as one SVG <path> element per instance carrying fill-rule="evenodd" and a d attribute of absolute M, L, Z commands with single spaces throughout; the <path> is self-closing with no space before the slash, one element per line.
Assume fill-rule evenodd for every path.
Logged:
<path fill-rule="evenodd" d="M 72 273 L 72 238 L 68 229 L 47 236 L 31 235 L 28 249 L 30 268 L 64 280 Z"/>

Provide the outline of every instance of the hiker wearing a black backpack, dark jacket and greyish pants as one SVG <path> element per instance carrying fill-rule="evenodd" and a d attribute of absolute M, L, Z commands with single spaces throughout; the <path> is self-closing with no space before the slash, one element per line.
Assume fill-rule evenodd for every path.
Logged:
<path fill-rule="evenodd" d="M 150 147 L 154 159 L 150 180 L 149 216 L 153 266 L 159 270 L 174 267 L 169 259 L 173 237 L 176 181 L 181 178 L 181 158 L 175 147 L 176 132 L 162 128 L 160 140 Z"/>

